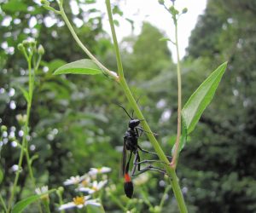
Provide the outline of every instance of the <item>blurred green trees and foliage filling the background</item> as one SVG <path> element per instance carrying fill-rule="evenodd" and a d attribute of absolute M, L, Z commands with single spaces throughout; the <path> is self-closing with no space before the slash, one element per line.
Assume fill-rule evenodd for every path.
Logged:
<path fill-rule="evenodd" d="M 111 39 L 102 29 L 105 14 L 95 8 L 95 1 L 76 2 L 86 5 L 76 15 L 65 3 L 69 19 L 83 23 L 75 27 L 76 32 L 104 65 L 115 70 Z M 122 15 L 118 6 L 116 14 Z M 256 211 L 255 8 L 250 0 L 209 0 L 189 39 L 182 66 L 183 103 L 214 68 L 229 60 L 217 95 L 179 160 L 177 172 L 189 212 Z M 52 75 L 66 62 L 86 57 L 61 18 L 33 1 L 9 0 L 1 1 L 0 22 L 0 121 L 18 139 L 20 126 L 15 116 L 25 113 L 26 102 L 17 85 L 27 86 L 27 68 L 17 44 L 35 37 L 46 53 L 37 73 L 31 116 L 30 147 L 31 155 L 38 155 L 33 163 L 37 185 L 59 187 L 90 167 L 108 166 L 113 170 L 108 186 L 115 185 L 113 196 L 120 202 L 130 209 L 136 206 L 137 212 L 149 211 L 149 203 L 159 204 L 166 182 L 157 174 L 148 173 L 142 180 L 138 177 L 137 199 L 129 201 L 123 193 L 119 169 L 128 118 L 116 104 L 130 109 L 122 91 L 101 75 Z M 161 146 L 170 154 L 177 128 L 177 76 L 172 54 L 160 37 L 164 35 L 156 27 L 144 23 L 138 37 L 125 37 L 120 46 L 131 89 Z M 145 136 L 140 143 L 151 149 Z M 4 198 L 9 197 L 15 176 L 11 168 L 18 157 L 19 148 L 11 141 L 3 145 Z M 33 193 L 26 161 L 19 186 L 16 200 Z M 65 188 L 65 201 L 72 196 L 73 191 Z M 57 198 L 51 195 L 51 200 L 54 210 Z M 108 193 L 103 194 L 102 203 L 107 212 L 122 212 Z M 163 212 L 177 212 L 172 193 Z"/>

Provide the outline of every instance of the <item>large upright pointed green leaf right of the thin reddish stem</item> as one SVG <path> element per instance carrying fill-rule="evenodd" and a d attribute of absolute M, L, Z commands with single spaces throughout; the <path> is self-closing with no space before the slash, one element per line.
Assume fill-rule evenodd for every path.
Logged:
<path fill-rule="evenodd" d="M 212 74 L 199 86 L 190 96 L 189 101 L 182 110 L 183 122 L 186 125 L 188 135 L 195 129 L 195 125 L 201 118 L 202 112 L 206 109 L 218 88 L 218 83 L 223 77 L 227 62 L 212 72 Z"/>

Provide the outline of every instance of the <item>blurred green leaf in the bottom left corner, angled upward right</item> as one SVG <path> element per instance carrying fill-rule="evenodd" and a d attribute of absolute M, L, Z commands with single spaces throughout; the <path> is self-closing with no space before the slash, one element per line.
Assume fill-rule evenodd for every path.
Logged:
<path fill-rule="evenodd" d="M 41 197 L 43 197 L 44 195 L 48 194 L 48 193 L 52 193 L 54 192 L 55 189 L 52 189 L 52 190 L 49 190 L 48 192 L 46 193 L 42 193 L 42 194 L 37 194 L 37 195 L 32 195 L 26 199 L 22 199 L 20 200 L 20 202 L 18 202 L 17 204 L 15 204 L 14 206 L 14 209 L 12 210 L 12 213 L 20 213 L 22 212 L 23 210 L 26 209 L 26 207 L 29 205 L 29 204 L 32 204 L 36 201 L 38 201 L 39 199 L 41 199 Z"/>

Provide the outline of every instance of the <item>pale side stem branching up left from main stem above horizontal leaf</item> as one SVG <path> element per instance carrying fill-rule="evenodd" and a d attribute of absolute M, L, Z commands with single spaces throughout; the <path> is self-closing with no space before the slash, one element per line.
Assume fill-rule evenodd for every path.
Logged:
<path fill-rule="evenodd" d="M 97 60 L 94 55 L 92 55 L 92 54 L 90 53 L 90 50 L 87 49 L 87 48 L 84 46 L 84 44 L 81 42 L 81 40 L 80 40 L 79 37 L 77 36 L 76 32 L 74 31 L 73 26 L 71 25 L 70 21 L 67 19 L 67 15 L 65 14 L 65 11 L 64 11 L 64 9 L 63 9 L 63 7 L 62 7 L 62 4 L 60 3 L 59 6 L 60 6 L 60 14 L 61 14 L 63 20 L 65 21 L 65 23 L 67 24 L 67 27 L 68 27 L 69 31 L 71 32 L 71 34 L 72 34 L 74 40 L 79 44 L 79 47 L 84 50 L 84 53 L 85 53 L 86 55 L 88 55 L 88 56 L 90 57 L 90 59 L 93 60 L 93 61 L 96 63 L 97 66 L 99 66 L 100 68 L 102 68 L 102 71 L 103 71 L 105 74 L 107 74 L 107 75 L 110 76 L 111 78 L 115 79 L 116 81 L 119 81 L 119 78 L 118 78 L 118 76 L 116 75 L 116 73 L 115 73 L 115 72 L 112 72 L 112 71 L 110 71 L 110 70 L 108 70 L 108 68 L 107 68 L 106 66 L 103 66 L 102 63 L 101 63 L 99 60 Z"/>

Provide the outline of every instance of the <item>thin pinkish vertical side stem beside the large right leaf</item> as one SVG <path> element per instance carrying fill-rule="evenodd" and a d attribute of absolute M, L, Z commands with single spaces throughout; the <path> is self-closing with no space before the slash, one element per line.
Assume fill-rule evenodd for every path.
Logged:
<path fill-rule="evenodd" d="M 182 78 L 181 78 L 181 68 L 180 68 L 180 58 L 179 58 L 179 49 L 177 42 L 177 19 L 173 17 L 174 25 L 175 25 L 175 46 L 177 53 L 177 138 L 175 142 L 175 150 L 172 158 L 171 166 L 176 169 L 177 167 L 177 158 L 179 154 L 179 144 L 181 137 L 181 110 L 182 110 Z"/>

